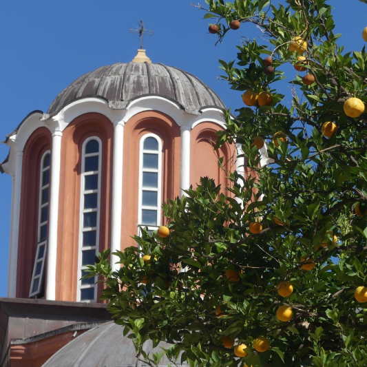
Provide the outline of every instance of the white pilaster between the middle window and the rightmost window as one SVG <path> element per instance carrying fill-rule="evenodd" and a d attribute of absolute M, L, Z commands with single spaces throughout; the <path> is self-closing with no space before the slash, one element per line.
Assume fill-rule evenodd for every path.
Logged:
<path fill-rule="evenodd" d="M 111 252 L 121 250 L 121 215 L 123 211 L 123 140 L 124 123 L 114 125 L 114 162 L 112 169 L 112 234 Z M 112 263 L 112 269 L 118 270 L 119 264 Z"/>

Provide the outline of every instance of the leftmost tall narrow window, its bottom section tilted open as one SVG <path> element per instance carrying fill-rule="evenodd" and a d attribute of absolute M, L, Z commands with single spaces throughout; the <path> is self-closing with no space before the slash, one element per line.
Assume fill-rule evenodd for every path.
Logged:
<path fill-rule="evenodd" d="M 43 285 L 48 235 L 48 202 L 50 196 L 50 151 L 41 158 L 39 175 L 39 220 L 36 258 L 34 260 L 30 297 L 40 295 Z"/>

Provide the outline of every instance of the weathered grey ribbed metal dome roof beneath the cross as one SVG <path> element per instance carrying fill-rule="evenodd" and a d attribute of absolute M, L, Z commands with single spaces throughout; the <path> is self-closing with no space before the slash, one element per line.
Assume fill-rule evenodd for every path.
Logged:
<path fill-rule="evenodd" d="M 225 108 L 213 90 L 192 74 L 161 63 L 116 63 L 84 74 L 52 102 L 48 114 L 55 115 L 79 98 L 100 97 L 115 109 L 126 108 L 141 96 L 162 96 L 182 109 L 199 114 L 204 107 Z"/>

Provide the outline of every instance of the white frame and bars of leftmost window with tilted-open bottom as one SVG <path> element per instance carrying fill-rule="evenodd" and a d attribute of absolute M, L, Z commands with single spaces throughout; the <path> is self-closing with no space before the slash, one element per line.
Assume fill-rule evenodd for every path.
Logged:
<path fill-rule="evenodd" d="M 43 168 L 43 162 L 45 161 L 46 156 L 50 156 L 50 162 L 49 162 L 48 167 Z M 45 171 L 49 171 L 48 184 L 42 185 L 43 184 L 43 172 Z M 38 218 L 38 226 L 37 226 L 37 249 L 36 249 L 36 257 L 34 258 L 34 266 L 33 266 L 33 271 L 32 271 L 32 280 L 30 282 L 29 297 L 34 297 L 36 295 L 39 295 L 39 293 L 41 292 L 41 287 L 42 287 L 42 282 L 43 282 L 43 272 L 45 269 L 48 234 L 46 234 L 45 240 L 41 241 L 41 227 L 48 225 L 48 218 L 45 221 L 41 222 L 41 218 L 42 218 L 41 213 L 42 213 L 42 209 L 45 207 L 48 207 L 48 210 L 50 210 L 50 180 L 51 180 L 51 152 L 50 150 L 47 150 L 45 151 L 45 153 L 43 153 L 41 157 L 41 165 L 39 169 L 39 218 Z M 42 204 L 43 189 L 48 189 L 49 191 L 48 191 L 47 202 Z M 42 246 L 44 246 L 45 249 L 43 251 L 43 257 L 39 258 L 39 250 L 41 249 Z M 41 272 L 38 275 L 35 275 L 37 264 L 39 262 L 41 262 Z M 33 289 L 34 281 L 36 279 L 39 279 L 39 286 L 37 287 L 36 291 L 33 292 L 32 289 Z"/>

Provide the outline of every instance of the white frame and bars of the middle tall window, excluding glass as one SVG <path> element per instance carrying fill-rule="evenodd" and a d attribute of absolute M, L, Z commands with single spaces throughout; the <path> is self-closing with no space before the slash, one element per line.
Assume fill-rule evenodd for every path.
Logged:
<path fill-rule="evenodd" d="M 98 153 L 85 153 L 85 147 L 90 140 L 96 140 L 98 142 Z M 82 145 L 82 155 L 81 155 L 81 200 L 79 207 L 79 246 L 78 246 L 78 285 L 76 290 L 76 300 L 77 302 L 96 302 L 97 301 L 97 284 L 81 284 L 82 271 L 87 269 L 86 266 L 82 266 L 83 261 L 83 251 L 94 250 L 95 253 L 99 251 L 99 224 L 100 224 L 100 214 L 101 214 L 101 176 L 102 176 L 102 140 L 98 136 L 90 136 L 86 138 Z M 85 172 L 85 158 L 98 156 L 98 171 L 88 171 Z M 85 176 L 90 176 L 98 174 L 98 187 L 96 190 L 85 190 Z M 84 209 L 84 196 L 88 193 L 97 193 L 97 208 L 96 209 Z M 91 213 L 96 211 L 97 222 L 96 227 L 83 228 L 83 214 Z M 96 245 L 95 246 L 83 246 L 83 232 L 96 231 Z M 92 264 L 91 264 L 92 265 Z M 94 277 L 94 283 L 96 283 L 97 277 Z M 94 288 L 94 299 L 93 300 L 81 300 L 81 290 Z"/>

